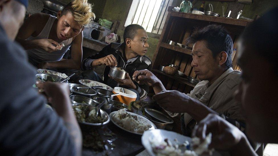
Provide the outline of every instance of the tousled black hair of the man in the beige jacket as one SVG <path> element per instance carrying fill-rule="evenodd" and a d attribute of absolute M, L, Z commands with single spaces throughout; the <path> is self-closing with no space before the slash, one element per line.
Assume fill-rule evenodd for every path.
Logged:
<path fill-rule="evenodd" d="M 211 24 L 202 29 L 196 29 L 187 39 L 187 44 L 196 43 L 197 41 L 205 41 L 207 48 L 212 51 L 212 56 L 216 56 L 221 52 L 227 53 L 226 68 L 232 67 L 233 41 L 229 32 L 220 25 Z"/>

